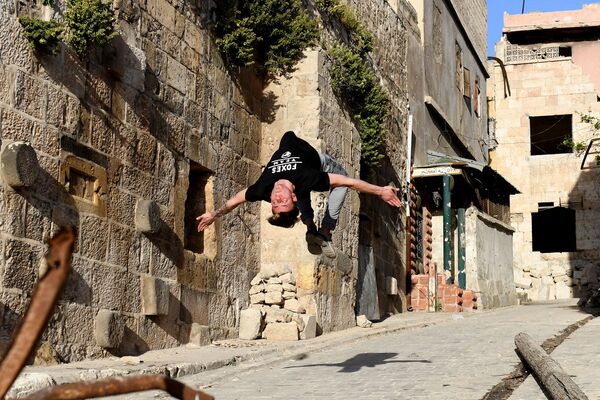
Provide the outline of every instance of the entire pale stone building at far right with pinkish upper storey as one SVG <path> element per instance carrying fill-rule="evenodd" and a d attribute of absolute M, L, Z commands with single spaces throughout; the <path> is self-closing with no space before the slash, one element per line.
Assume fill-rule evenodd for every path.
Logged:
<path fill-rule="evenodd" d="M 521 192 L 510 198 L 510 221 L 515 282 L 526 300 L 598 287 L 597 131 L 581 116 L 600 111 L 599 21 L 600 3 L 505 14 L 496 45 L 505 77 L 490 64 L 492 166 Z"/>

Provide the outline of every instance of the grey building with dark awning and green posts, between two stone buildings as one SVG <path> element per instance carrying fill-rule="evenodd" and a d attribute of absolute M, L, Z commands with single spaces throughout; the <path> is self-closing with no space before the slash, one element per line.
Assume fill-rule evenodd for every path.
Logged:
<path fill-rule="evenodd" d="M 405 181 L 413 307 L 514 304 L 507 217 L 508 196 L 516 190 L 488 166 L 486 2 L 411 4 L 418 23 L 408 41 L 412 175 Z M 448 289 L 453 294 L 444 299 L 446 283 L 470 289 L 477 300 L 463 302 L 458 289 Z"/>

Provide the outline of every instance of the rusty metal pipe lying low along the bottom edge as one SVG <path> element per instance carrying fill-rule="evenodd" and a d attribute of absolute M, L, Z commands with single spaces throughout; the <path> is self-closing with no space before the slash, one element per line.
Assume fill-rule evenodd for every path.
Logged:
<path fill-rule="evenodd" d="M 164 375 L 121 376 L 94 382 L 65 383 L 40 390 L 26 400 L 92 399 L 146 390 L 163 390 L 181 400 L 214 400 L 211 395 Z"/>

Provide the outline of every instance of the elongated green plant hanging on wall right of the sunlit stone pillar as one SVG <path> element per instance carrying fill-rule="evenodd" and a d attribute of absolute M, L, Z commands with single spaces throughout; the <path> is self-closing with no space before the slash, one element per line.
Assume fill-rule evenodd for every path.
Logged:
<path fill-rule="evenodd" d="M 331 85 L 334 92 L 351 110 L 358 122 L 361 139 L 361 162 L 372 168 L 383 158 L 381 148 L 385 137 L 385 119 L 389 98 L 367 62 L 345 45 L 328 51 L 331 59 Z"/>

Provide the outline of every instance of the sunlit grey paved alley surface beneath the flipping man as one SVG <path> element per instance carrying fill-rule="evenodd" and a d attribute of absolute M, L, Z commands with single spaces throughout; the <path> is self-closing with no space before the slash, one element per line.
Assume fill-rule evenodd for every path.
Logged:
<path fill-rule="evenodd" d="M 330 348 L 269 365 L 242 363 L 182 380 L 227 399 L 481 399 L 518 362 L 514 336 L 539 343 L 586 318 L 574 302 L 511 307 L 455 318 Z M 600 398 L 597 320 L 572 333 L 553 353 L 590 399 Z M 573 354 L 577 362 L 570 362 Z M 594 367 L 594 365 L 596 365 Z M 155 398 L 167 398 L 156 393 Z M 130 398 L 148 398 L 135 396 Z M 528 378 L 515 399 L 545 399 Z"/>

